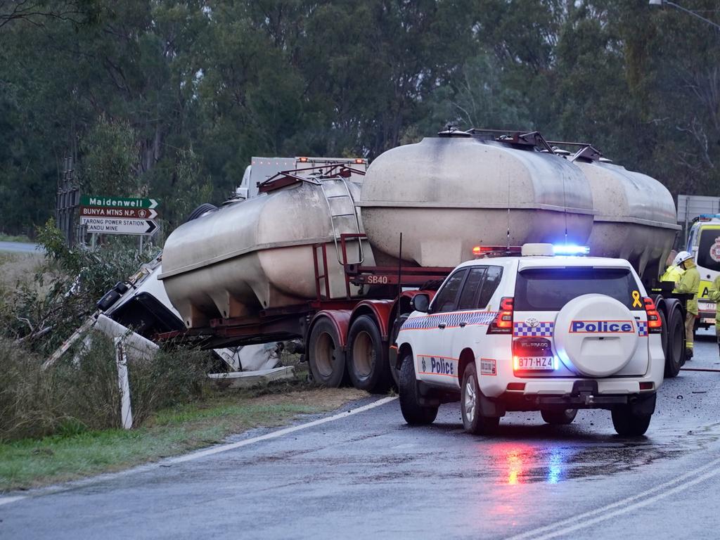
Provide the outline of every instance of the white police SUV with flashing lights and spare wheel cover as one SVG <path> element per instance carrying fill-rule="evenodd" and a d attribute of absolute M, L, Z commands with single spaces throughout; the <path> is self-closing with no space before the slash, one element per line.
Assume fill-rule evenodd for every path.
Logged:
<path fill-rule="evenodd" d="M 621 435 L 647 431 L 665 369 L 660 315 L 628 261 L 564 248 L 575 256 L 526 244 L 468 261 L 432 302 L 415 294 L 396 342 L 409 424 L 459 397 L 469 433 L 507 411 L 569 424 L 580 408 L 610 410 Z"/>

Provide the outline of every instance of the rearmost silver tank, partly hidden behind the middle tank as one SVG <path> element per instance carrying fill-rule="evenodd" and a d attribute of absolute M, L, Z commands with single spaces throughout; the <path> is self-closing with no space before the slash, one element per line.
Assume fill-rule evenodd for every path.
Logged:
<path fill-rule="evenodd" d="M 590 254 L 625 258 L 641 276 L 657 278 L 680 230 L 670 192 L 650 176 L 622 166 L 582 160 L 575 164 L 593 190 Z"/>

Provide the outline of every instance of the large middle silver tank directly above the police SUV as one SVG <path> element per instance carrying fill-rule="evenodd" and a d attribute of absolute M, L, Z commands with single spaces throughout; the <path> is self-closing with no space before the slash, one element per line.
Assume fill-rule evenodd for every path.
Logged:
<path fill-rule="evenodd" d="M 359 207 L 379 264 L 455 266 L 478 245 L 585 243 L 593 196 L 579 168 L 551 153 L 467 138 L 426 138 L 379 156 Z"/>

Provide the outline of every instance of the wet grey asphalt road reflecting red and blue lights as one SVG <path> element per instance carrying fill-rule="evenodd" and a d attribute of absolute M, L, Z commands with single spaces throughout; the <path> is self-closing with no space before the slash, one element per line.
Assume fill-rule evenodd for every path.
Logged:
<path fill-rule="evenodd" d="M 688 367 L 720 369 L 706 336 Z M 720 373 L 681 372 L 639 439 L 616 436 L 602 410 L 562 427 L 509 413 L 497 436 L 473 437 L 451 404 L 410 428 L 393 400 L 186 462 L 5 494 L 0 538 L 716 539 L 719 395 Z"/>

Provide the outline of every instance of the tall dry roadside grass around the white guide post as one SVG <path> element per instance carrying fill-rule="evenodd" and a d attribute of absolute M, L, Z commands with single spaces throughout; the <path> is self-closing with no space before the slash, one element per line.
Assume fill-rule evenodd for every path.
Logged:
<path fill-rule="evenodd" d="M 161 408 L 202 397 L 210 353 L 185 348 L 128 361 L 134 425 Z M 0 338 L 0 441 L 121 427 L 114 346 L 91 334 L 51 369 Z M 81 384 L 78 382 L 81 381 Z"/>

